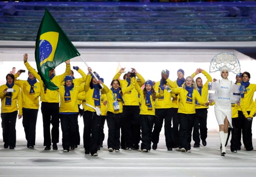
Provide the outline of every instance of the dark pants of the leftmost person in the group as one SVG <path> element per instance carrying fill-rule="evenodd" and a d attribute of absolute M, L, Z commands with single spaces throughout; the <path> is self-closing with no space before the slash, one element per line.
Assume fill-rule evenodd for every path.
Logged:
<path fill-rule="evenodd" d="M 2 118 L 2 130 L 3 130 L 3 142 L 5 145 L 15 147 L 16 145 L 16 119 L 18 111 L 10 113 L 1 113 Z"/>

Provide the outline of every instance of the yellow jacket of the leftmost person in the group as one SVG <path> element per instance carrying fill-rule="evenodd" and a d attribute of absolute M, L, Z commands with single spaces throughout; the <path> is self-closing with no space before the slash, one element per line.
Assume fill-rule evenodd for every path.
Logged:
<path fill-rule="evenodd" d="M 3 93 L 3 90 L 6 88 L 8 88 L 6 84 L 0 86 L 1 113 L 10 113 L 10 112 L 19 110 L 18 115 L 22 115 L 22 98 L 20 93 L 20 87 L 15 84 L 13 85 L 14 91 L 12 92 L 11 106 L 5 106 L 6 94 Z"/>

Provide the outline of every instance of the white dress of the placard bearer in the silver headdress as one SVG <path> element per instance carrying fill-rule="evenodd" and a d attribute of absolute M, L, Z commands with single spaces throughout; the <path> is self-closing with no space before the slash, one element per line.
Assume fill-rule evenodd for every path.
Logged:
<path fill-rule="evenodd" d="M 231 102 L 229 99 L 230 96 L 230 85 L 234 84 L 233 82 L 227 80 L 219 80 L 219 87 L 216 90 L 215 94 L 217 95 L 217 99 L 215 102 L 214 110 L 217 122 L 219 125 L 224 125 L 224 119 L 228 118 L 229 127 L 232 126 L 232 117 L 231 117 Z"/>

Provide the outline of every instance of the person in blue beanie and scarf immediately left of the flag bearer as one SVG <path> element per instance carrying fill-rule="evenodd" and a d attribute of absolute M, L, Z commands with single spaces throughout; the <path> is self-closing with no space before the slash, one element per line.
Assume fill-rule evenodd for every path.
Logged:
<path fill-rule="evenodd" d="M 59 116 L 62 130 L 63 152 L 75 149 L 77 142 L 78 94 L 83 92 L 84 84 L 75 86 L 71 76 L 65 77 L 64 86 L 58 86 L 60 93 Z"/>

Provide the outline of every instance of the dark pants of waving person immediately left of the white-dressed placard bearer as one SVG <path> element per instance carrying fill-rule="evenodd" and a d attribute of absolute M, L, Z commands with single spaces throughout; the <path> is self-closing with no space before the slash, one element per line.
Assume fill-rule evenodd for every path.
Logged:
<path fill-rule="evenodd" d="M 196 109 L 195 122 L 193 126 L 193 141 L 195 144 L 200 145 L 200 138 L 202 141 L 205 141 L 207 138 L 207 113 L 207 108 Z"/>

